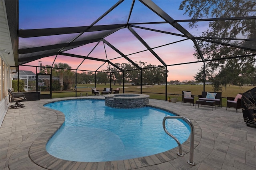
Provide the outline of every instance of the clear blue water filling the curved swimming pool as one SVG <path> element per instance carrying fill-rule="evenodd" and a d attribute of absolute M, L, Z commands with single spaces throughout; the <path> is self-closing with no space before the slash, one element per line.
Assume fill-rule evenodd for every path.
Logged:
<path fill-rule="evenodd" d="M 62 127 L 46 150 L 52 156 L 78 162 L 124 160 L 165 152 L 178 146 L 164 132 L 162 120 L 171 113 L 144 107 L 114 109 L 104 100 L 65 100 L 44 105 L 65 115 Z M 167 130 L 181 143 L 190 135 L 182 120 L 166 120 Z"/>

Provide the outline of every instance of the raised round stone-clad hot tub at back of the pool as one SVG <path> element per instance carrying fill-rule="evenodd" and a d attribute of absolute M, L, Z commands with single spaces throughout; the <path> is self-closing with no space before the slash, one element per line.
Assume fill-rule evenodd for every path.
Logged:
<path fill-rule="evenodd" d="M 110 94 L 104 97 L 106 106 L 120 109 L 141 108 L 149 103 L 149 95 L 143 94 Z"/>

